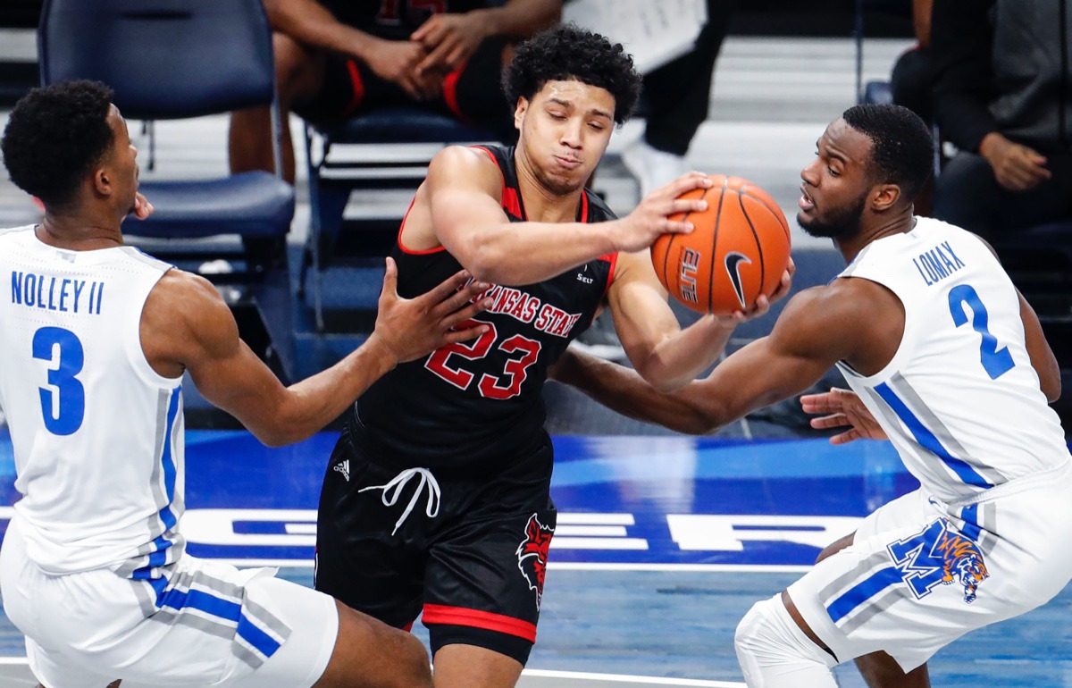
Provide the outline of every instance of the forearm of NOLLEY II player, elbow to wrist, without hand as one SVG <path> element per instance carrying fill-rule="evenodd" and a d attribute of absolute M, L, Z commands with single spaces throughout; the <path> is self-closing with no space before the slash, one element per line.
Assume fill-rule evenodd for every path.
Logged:
<path fill-rule="evenodd" d="M 273 447 L 307 439 L 338 418 L 397 364 L 398 358 L 373 333 L 328 370 L 288 387 L 273 422 L 274 432 L 257 438 Z"/>

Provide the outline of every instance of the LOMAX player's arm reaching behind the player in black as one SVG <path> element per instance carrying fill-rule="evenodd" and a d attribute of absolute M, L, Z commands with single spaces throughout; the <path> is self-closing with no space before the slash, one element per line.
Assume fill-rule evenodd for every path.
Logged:
<path fill-rule="evenodd" d="M 661 394 L 636 371 L 567 350 L 553 379 L 578 388 L 617 413 L 678 432 L 706 434 L 748 413 L 799 394 L 838 360 L 853 355 L 861 338 L 858 302 L 832 287 L 802 291 L 786 305 L 769 336 L 719 363 L 704 379 Z"/>

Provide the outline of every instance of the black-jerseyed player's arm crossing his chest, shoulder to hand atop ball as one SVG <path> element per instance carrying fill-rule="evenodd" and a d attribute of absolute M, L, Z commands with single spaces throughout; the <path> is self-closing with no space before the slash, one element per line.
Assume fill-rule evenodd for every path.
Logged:
<path fill-rule="evenodd" d="M 645 198 L 628 216 L 611 222 L 511 223 L 503 212 L 503 178 L 495 164 L 482 151 L 455 146 L 436 154 L 418 191 L 418 204 L 421 194 L 428 194 L 429 231 L 434 234 L 418 236 L 417 241 L 446 246 L 478 280 L 533 284 L 601 255 L 639 251 L 664 233 L 690 231 L 690 224 L 668 216 L 701 210 L 706 203 L 675 198 L 710 185 L 711 180 L 699 173 L 686 175 Z M 416 233 L 421 231 L 418 224 Z M 407 222 L 404 231 L 410 230 Z"/>

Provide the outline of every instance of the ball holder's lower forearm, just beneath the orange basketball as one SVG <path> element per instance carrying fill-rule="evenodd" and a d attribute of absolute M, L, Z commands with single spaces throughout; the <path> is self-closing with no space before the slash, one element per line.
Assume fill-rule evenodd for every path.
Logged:
<path fill-rule="evenodd" d="M 718 360 L 734 327 L 714 316 L 700 318 L 659 343 L 637 371 L 664 394 L 681 389 Z"/>

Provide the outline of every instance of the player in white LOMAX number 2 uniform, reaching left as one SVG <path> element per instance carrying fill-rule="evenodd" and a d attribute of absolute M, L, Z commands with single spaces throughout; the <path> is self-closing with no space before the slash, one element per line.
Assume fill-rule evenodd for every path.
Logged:
<path fill-rule="evenodd" d="M 710 377 L 662 395 L 611 363 L 560 361 L 557 377 L 597 401 L 693 433 L 836 364 L 869 417 L 835 392 L 807 400 L 835 410 L 820 424 L 851 423 L 840 442 L 884 434 L 920 480 L 751 608 L 736 631 L 749 686 L 832 688 L 830 669 L 854 658 L 870 686 L 928 686 L 934 653 L 1045 603 L 1072 577 L 1072 467 L 1047 406 L 1057 362 L 989 246 L 912 215 L 932 153 L 927 128 L 899 106 L 852 107 L 827 128 L 801 173 L 798 222 L 833 239 L 848 267 Z"/>

